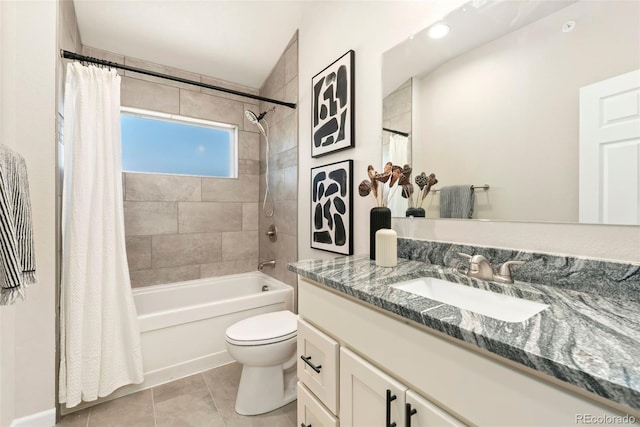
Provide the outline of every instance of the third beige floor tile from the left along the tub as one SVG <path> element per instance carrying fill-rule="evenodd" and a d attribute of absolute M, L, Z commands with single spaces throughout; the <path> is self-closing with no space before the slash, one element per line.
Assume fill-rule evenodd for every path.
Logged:
<path fill-rule="evenodd" d="M 202 374 L 153 389 L 157 427 L 224 426 Z"/>

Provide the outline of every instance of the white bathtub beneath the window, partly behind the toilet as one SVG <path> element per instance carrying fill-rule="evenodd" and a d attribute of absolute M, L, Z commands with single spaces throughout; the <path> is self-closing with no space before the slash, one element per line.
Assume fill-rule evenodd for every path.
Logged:
<path fill-rule="evenodd" d="M 266 290 L 263 288 L 266 286 Z M 75 412 L 233 361 L 225 331 L 257 314 L 293 309 L 293 288 L 261 272 L 133 289 L 144 382 L 62 410 Z"/>

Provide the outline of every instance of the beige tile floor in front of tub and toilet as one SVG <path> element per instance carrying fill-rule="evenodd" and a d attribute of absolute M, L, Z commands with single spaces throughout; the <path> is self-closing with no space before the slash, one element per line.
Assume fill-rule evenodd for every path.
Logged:
<path fill-rule="evenodd" d="M 56 427 L 295 427 L 295 401 L 263 415 L 236 414 L 241 372 L 231 363 L 74 412 Z"/>

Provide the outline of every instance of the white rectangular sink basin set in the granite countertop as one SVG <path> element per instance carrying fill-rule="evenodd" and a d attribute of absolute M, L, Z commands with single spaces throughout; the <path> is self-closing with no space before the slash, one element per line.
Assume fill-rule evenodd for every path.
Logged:
<path fill-rule="evenodd" d="M 435 277 L 421 277 L 392 285 L 392 287 L 505 322 L 522 322 L 549 307 L 547 304 L 472 288 Z"/>

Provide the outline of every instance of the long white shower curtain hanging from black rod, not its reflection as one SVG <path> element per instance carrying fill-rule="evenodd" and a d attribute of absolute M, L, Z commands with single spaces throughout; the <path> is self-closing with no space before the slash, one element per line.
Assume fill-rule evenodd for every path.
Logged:
<path fill-rule="evenodd" d="M 120 76 L 71 63 L 64 103 L 60 403 L 143 380 L 124 240 Z"/>

